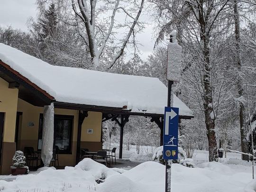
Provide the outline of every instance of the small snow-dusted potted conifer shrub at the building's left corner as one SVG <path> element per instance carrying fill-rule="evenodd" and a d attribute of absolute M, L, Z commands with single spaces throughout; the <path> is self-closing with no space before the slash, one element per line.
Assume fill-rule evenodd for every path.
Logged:
<path fill-rule="evenodd" d="M 17 150 L 12 158 L 11 175 L 28 174 L 28 167 L 26 165 L 26 158 L 24 153 Z"/>

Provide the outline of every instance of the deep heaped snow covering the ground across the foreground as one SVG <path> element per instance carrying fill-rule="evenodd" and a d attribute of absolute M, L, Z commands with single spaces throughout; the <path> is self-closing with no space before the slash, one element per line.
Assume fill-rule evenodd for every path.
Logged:
<path fill-rule="evenodd" d="M 196 168 L 172 166 L 172 192 L 256 192 L 251 163 L 227 153 L 220 162 L 207 162 L 208 152 L 197 150 Z M 97 184 L 96 181 L 103 183 Z M 108 168 L 84 159 L 76 167 L 48 169 L 0 181 L 3 192 L 164 192 L 165 166 L 148 161 L 130 170 Z"/>

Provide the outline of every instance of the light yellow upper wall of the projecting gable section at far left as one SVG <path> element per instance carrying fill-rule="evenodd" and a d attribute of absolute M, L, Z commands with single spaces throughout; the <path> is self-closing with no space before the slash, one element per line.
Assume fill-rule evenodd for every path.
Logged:
<path fill-rule="evenodd" d="M 18 89 L 9 89 L 9 83 L 0 78 L 0 112 L 5 113 L 3 142 L 14 142 Z"/>

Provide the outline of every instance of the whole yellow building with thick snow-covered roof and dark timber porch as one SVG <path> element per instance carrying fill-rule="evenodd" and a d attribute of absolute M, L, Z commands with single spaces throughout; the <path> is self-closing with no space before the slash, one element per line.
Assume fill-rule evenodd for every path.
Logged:
<path fill-rule="evenodd" d="M 48 139 L 54 133 L 60 166 L 74 166 L 80 149 L 102 149 L 102 122 L 110 119 L 120 126 L 122 158 L 129 116 L 151 117 L 163 134 L 166 100 L 167 88 L 157 78 L 53 66 L 0 43 L 0 174 L 10 174 L 16 150 L 52 146 L 52 140 L 42 142 L 47 140 L 43 131 Z M 54 106 L 54 132 L 43 125 L 46 106 Z M 180 118 L 193 117 L 175 95 L 174 107 L 179 108 Z"/>

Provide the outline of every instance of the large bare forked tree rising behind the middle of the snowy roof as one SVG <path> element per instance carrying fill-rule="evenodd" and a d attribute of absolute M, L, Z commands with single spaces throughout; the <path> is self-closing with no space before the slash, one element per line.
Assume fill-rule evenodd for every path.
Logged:
<path fill-rule="evenodd" d="M 97 0 L 72 0 L 73 11 L 77 17 L 77 22 L 81 23 L 79 31 L 82 36 L 85 36 L 84 39 L 89 46 L 94 67 L 100 66 L 100 58 L 107 47 L 108 41 L 115 41 L 117 38 L 114 35 L 114 28 L 126 26 L 128 27 L 128 32 L 121 38 L 119 50 L 116 50 L 107 68 L 110 69 L 120 58 L 128 44 L 130 36 L 136 34 L 135 27 L 142 27 L 138 19 L 141 15 L 144 1 L 139 0 L 138 2 L 140 3 L 138 3 L 137 0 L 127 0 L 124 3 L 121 0 L 99 0 L 98 2 Z M 97 5 L 99 5 L 99 8 L 97 8 Z M 104 27 L 101 27 L 99 26 L 102 22 L 101 12 L 107 14 L 106 11 L 111 11 L 110 22 L 106 22 Z M 120 11 L 126 15 L 123 24 L 118 24 L 117 22 L 117 15 Z M 135 14 L 136 17 L 134 17 Z M 98 35 L 99 30 L 100 35 Z M 135 39 L 133 42 L 135 42 Z"/>

